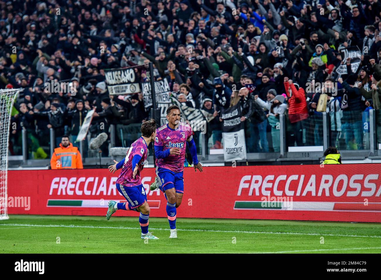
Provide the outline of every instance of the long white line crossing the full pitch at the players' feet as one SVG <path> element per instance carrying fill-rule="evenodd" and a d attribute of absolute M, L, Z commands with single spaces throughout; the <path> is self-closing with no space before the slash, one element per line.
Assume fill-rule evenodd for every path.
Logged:
<path fill-rule="evenodd" d="M 79 229 L 140 229 L 140 227 L 100 227 L 100 226 L 76 226 L 76 225 L 34 225 L 34 224 L 0 224 L 0 226 L 22 226 L 22 227 L 70 227 Z M 162 227 L 150 227 L 150 230 L 168 230 Z M 247 233 L 247 234 L 286 234 L 286 235 L 316 235 L 316 236 L 335 236 L 335 237 L 362 237 L 362 238 L 381 238 L 379 235 L 349 235 L 349 234 L 322 234 L 322 233 L 303 233 L 303 232 L 265 232 L 265 231 L 246 231 L 246 230 L 211 230 L 211 229 L 177 229 L 179 231 L 191 232 L 226 232 L 226 233 Z"/>

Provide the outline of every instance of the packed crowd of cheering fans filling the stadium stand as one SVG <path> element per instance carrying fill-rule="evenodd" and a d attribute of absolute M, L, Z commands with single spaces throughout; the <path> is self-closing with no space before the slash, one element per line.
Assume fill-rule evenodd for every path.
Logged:
<path fill-rule="evenodd" d="M 24 88 L 12 112 L 11 154 L 21 147 L 21 127 L 34 158 L 48 157 L 42 147 L 50 128 L 55 146 L 64 134 L 78 145 L 79 128 L 94 108 L 91 136 L 108 133 L 110 124 L 144 122 L 149 108 L 142 94 L 109 95 L 104 69 L 143 65 L 134 71 L 138 82 L 147 82 L 150 61 L 153 78 L 167 79 L 180 102 L 215 116 L 207 130 L 213 148 L 222 146 L 219 115 L 238 102 L 248 152 L 279 152 L 281 114 L 288 146 L 322 145 L 321 93 L 328 93 L 330 146 L 341 149 L 364 149 L 368 111 L 381 109 L 379 0 L 15 0 L 0 6 L 0 85 Z M 341 52 L 351 46 L 362 53 L 356 72 Z M 347 74 L 336 73 L 340 65 Z M 74 90 L 65 91 L 63 83 L 61 90 L 47 89 L 54 82 Z"/>

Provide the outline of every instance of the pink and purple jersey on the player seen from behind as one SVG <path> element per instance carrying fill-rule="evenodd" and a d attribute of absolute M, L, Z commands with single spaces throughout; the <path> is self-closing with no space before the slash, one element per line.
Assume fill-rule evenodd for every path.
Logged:
<path fill-rule="evenodd" d="M 140 155 L 142 158 L 138 163 L 138 172 L 135 175 L 135 179 L 132 178 L 135 166 L 132 166 L 132 159 L 134 155 Z M 147 144 L 146 141 L 141 137 L 131 144 L 130 149 L 128 149 L 122 171 L 120 171 L 119 177 L 117 179 L 117 184 L 121 184 L 126 187 L 135 187 L 142 184 L 140 173 L 143 170 L 144 162 L 147 160 Z"/>

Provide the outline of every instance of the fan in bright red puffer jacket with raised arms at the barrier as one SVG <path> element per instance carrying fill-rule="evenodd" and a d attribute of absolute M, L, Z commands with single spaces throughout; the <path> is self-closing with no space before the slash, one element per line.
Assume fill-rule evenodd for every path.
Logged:
<path fill-rule="evenodd" d="M 292 131 L 295 132 L 296 145 L 303 146 L 303 129 L 305 129 L 303 120 L 308 118 L 306 94 L 303 88 L 288 77 L 284 78 L 284 85 L 288 96 L 288 118 L 293 127 Z M 289 145 L 294 146 L 294 143 Z"/>

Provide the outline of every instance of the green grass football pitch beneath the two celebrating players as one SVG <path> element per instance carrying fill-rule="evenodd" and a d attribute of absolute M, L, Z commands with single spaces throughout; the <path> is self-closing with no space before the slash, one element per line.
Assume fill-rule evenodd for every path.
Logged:
<path fill-rule="evenodd" d="M 159 240 L 142 240 L 138 217 L 10 215 L 1 253 L 381 253 L 381 224 L 150 218 Z"/>

